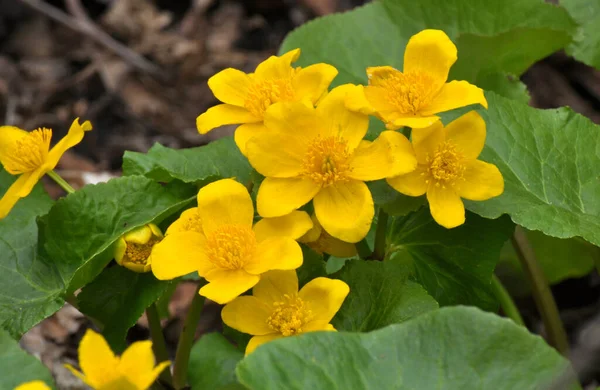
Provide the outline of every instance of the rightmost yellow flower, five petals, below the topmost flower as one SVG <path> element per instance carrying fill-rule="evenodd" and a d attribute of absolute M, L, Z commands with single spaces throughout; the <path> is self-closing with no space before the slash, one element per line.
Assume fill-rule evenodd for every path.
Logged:
<path fill-rule="evenodd" d="M 409 174 L 387 179 L 409 196 L 427 193 L 431 215 L 437 223 L 453 228 L 465 222 L 461 198 L 486 200 L 504 191 L 498 168 L 477 157 L 485 144 L 485 122 L 471 111 L 444 128 L 437 122 L 412 132 L 419 165 Z"/>

